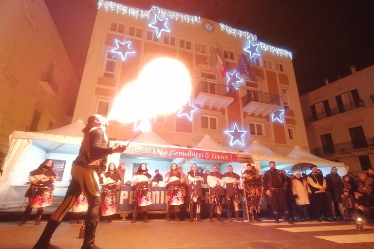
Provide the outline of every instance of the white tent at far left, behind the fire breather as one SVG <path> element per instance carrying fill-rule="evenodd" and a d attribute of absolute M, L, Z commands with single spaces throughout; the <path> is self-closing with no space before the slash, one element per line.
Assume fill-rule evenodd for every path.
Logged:
<path fill-rule="evenodd" d="M 83 139 L 81 130 L 84 126 L 82 120 L 77 120 L 70 125 L 49 131 L 14 131 L 10 135 L 9 149 L 3 164 L 4 172 L 0 181 L 0 208 L 5 203 L 8 206 L 9 201 L 23 202 L 24 188 L 20 186 L 27 181 L 28 173 L 36 169 L 46 158 L 66 160 L 66 165 L 71 165 L 70 162 L 78 154 Z M 69 177 L 70 173 L 66 174 L 60 185 L 67 184 Z M 15 188 L 12 196 L 10 196 L 11 186 L 19 187 L 19 192 Z"/>

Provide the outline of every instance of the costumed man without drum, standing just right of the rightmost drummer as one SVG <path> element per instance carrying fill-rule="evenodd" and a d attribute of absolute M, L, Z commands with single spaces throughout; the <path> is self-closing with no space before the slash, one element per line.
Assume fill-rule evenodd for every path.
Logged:
<path fill-rule="evenodd" d="M 189 211 L 188 222 L 193 221 L 194 213 L 196 213 L 196 220 L 203 221 L 200 218 L 200 208 L 201 208 L 201 197 L 203 196 L 203 191 L 201 189 L 201 184 L 204 183 L 203 175 L 197 170 L 196 163 L 191 166 L 191 171 L 188 172 L 187 178 L 189 181 L 188 194 L 190 197 L 191 207 Z M 195 211 L 196 207 L 196 211 Z"/>

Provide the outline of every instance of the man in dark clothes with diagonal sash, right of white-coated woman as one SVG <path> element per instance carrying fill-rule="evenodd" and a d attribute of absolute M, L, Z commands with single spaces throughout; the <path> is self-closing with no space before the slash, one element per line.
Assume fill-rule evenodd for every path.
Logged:
<path fill-rule="evenodd" d="M 328 219 L 329 200 L 326 194 L 326 179 L 318 173 L 316 165 L 310 167 L 312 173 L 308 175 L 307 181 L 312 192 L 310 205 L 314 218 L 317 221 L 332 221 Z"/>

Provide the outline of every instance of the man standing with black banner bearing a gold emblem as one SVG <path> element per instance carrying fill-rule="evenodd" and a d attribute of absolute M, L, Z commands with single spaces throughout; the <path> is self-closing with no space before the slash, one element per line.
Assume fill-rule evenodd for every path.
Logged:
<path fill-rule="evenodd" d="M 247 168 L 243 172 L 243 192 L 246 201 L 246 212 L 248 214 L 248 220 L 250 222 L 262 222 L 258 217 L 260 213 L 260 198 L 262 192 L 262 175 L 256 175 L 252 170 L 252 164 L 247 163 Z M 252 219 L 253 216 L 253 219 Z"/>

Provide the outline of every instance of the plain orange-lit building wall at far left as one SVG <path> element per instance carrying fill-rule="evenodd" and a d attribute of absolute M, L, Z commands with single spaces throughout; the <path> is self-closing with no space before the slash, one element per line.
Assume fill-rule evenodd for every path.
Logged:
<path fill-rule="evenodd" d="M 79 81 L 43 0 L 0 3 L 0 162 L 14 130 L 72 122 Z"/>

